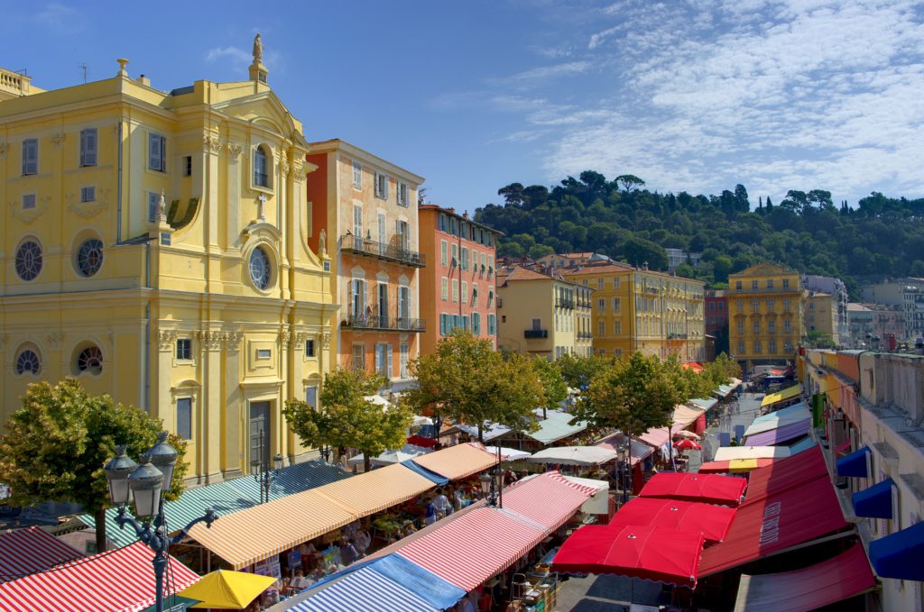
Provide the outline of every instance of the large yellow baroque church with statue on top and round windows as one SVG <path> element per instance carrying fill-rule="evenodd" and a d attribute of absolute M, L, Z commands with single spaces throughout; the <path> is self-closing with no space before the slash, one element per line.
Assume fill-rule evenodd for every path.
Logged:
<path fill-rule="evenodd" d="M 337 311 L 309 246 L 309 150 L 267 84 L 60 90 L 0 73 L 0 414 L 73 376 L 188 439 L 191 483 L 306 449 L 281 415 L 316 398 Z M 163 86 L 161 86 L 163 87 Z"/>

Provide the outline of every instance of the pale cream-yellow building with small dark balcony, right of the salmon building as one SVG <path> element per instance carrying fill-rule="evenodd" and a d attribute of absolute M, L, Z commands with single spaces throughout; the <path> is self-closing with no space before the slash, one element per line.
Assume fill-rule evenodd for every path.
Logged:
<path fill-rule="evenodd" d="M 592 354 L 592 290 L 522 266 L 497 270 L 497 346 L 553 361 Z"/>

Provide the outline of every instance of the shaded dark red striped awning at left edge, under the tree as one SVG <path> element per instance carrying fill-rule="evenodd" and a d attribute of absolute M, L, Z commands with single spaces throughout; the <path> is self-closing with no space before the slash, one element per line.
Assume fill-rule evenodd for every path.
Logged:
<path fill-rule="evenodd" d="M 53 568 L 83 555 L 41 527 L 0 534 L 0 582 Z"/>

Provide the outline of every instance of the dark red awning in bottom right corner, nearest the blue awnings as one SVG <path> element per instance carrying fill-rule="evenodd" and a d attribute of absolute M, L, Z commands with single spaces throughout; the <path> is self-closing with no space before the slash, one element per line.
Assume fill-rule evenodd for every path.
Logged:
<path fill-rule="evenodd" d="M 736 612 L 808 612 L 861 594 L 876 585 L 863 545 L 805 570 L 741 576 Z"/>

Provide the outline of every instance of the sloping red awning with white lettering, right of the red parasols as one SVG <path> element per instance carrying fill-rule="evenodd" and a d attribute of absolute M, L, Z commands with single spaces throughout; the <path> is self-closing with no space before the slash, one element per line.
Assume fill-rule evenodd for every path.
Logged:
<path fill-rule="evenodd" d="M 764 468 L 772 469 L 772 468 Z M 847 526 L 834 487 L 816 478 L 738 507 L 722 543 L 707 548 L 699 577 L 753 561 Z"/>

